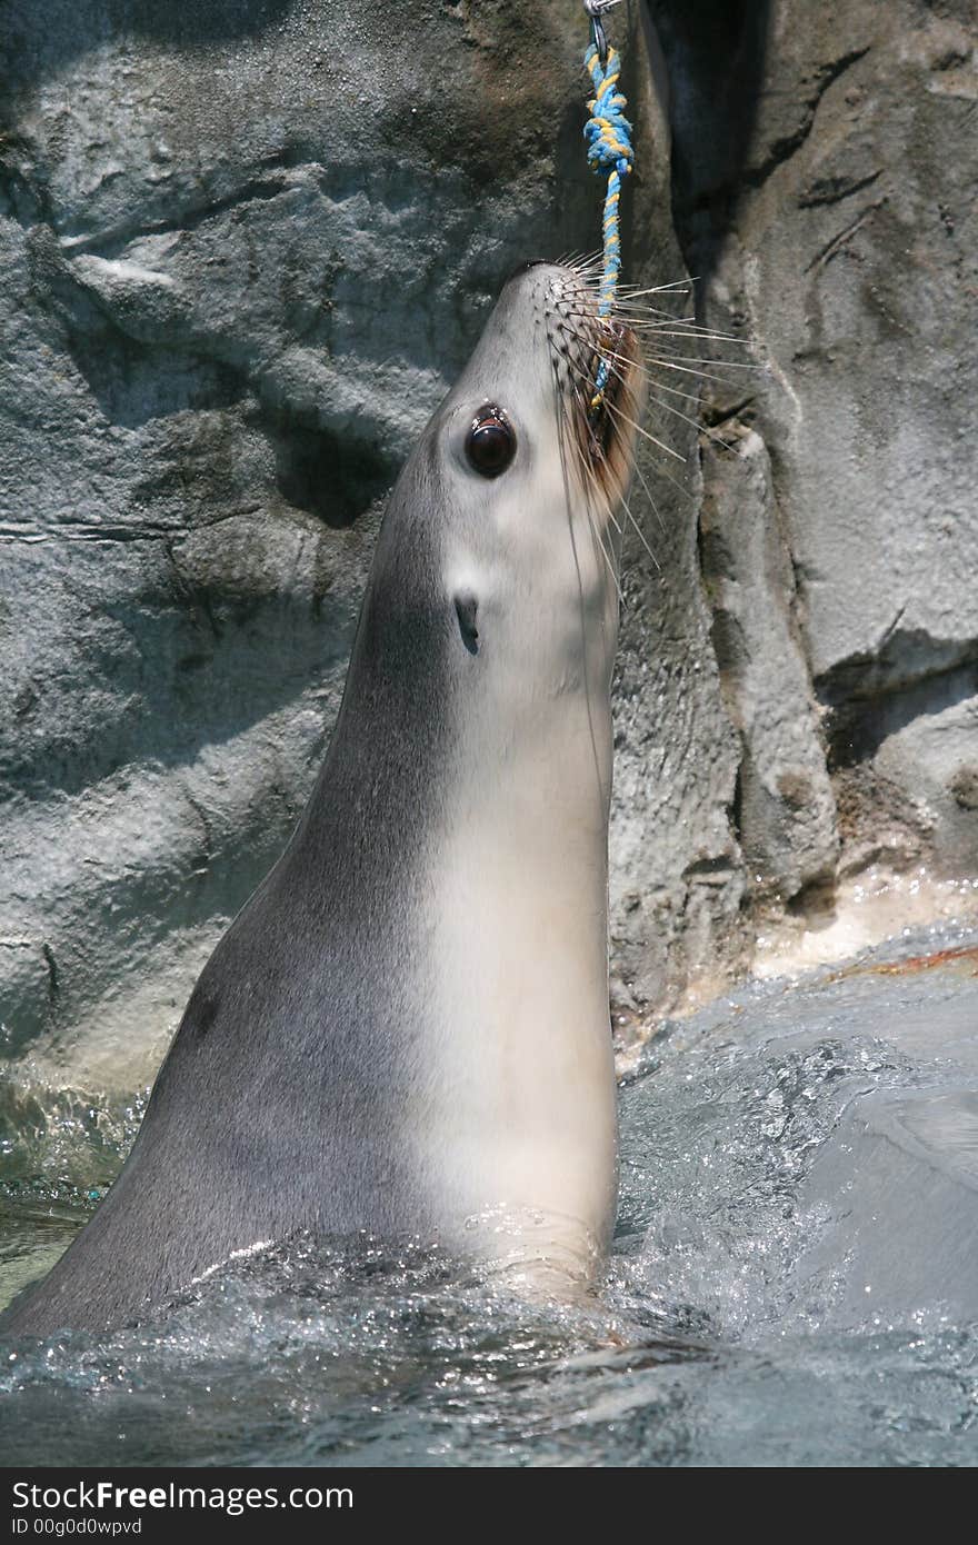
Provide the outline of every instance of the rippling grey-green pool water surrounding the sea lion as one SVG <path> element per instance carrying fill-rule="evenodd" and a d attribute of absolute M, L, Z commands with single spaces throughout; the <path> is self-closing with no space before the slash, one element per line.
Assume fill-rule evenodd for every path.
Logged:
<path fill-rule="evenodd" d="M 745 987 L 623 1086 L 593 1306 L 414 1245 L 277 1248 L 153 1326 L 0 1343 L 5 1463 L 975 1465 L 976 1091 L 975 935 Z M 8 1295 L 138 1119 L 8 1091 Z"/>

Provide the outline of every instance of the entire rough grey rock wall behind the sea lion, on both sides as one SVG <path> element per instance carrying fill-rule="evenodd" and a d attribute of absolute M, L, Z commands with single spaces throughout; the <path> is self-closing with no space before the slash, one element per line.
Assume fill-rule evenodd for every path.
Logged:
<path fill-rule="evenodd" d="M 964 0 L 626 25 L 629 277 L 686 264 L 746 345 L 663 355 L 684 460 L 644 443 L 626 542 L 641 1010 L 881 856 L 978 873 L 976 85 Z M 595 246 L 582 39 L 576 0 L 8 0 L 6 1055 L 142 1075 L 280 851 L 399 462 L 508 270 Z"/>

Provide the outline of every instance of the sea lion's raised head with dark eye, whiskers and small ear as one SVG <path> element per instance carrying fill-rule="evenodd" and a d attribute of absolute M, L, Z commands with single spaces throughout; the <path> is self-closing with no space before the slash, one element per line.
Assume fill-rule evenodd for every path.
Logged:
<path fill-rule="evenodd" d="M 609 383 L 595 406 L 601 358 Z M 575 681 L 607 691 L 616 508 L 641 380 L 635 338 L 598 317 L 589 270 L 528 264 L 505 284 L 392 496 L 402 606 L 414 592 L 426 613 L 450 616 L 470 655 L 494 658 L 533 695 Z M 385 567 L 379 553 L 379 579 Z"/>

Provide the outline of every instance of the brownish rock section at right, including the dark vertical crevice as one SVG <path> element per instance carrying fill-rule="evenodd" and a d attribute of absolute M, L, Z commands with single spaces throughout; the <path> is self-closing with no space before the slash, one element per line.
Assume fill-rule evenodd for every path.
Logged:
<path fill-rule="evenodd" d="M 700 448 L 731 884 L 825 921 L 867 873 L 978 873 L 978 17 L 652 11 L 700 314 L 762 366 L 705 383 Z"/>

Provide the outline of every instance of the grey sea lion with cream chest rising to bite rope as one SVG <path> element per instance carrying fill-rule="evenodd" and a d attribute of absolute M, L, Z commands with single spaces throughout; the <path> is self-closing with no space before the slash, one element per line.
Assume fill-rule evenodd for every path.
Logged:
<path fill-rule="evenodd" d="M 609 689 L 635 362 L 584 269 L 507 283 L 391 494 L 297 831 L 204 967 L 119 1179 L 6 1329 L 134 1319 L 301 1230 L 587 1278 L 616 1197 Z"/>

